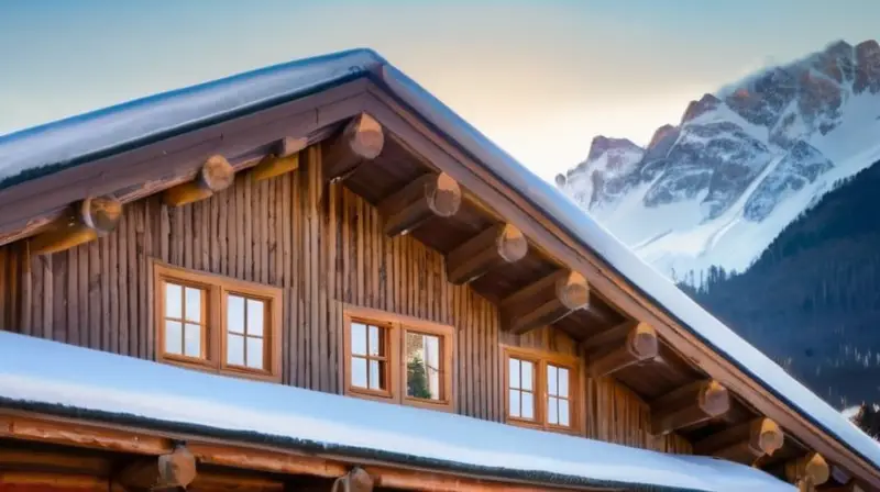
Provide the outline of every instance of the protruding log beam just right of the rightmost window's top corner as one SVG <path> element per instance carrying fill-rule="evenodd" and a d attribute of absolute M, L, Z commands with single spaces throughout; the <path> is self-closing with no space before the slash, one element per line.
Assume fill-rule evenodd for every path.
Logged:
<path fill-rule="evenodd" d="M 638 323 L 612 328 L 585 340 L 583 345 L 590 354 L 590 376 L 601 378 L 657 357 L 660 342 L 651 325 Z"/>

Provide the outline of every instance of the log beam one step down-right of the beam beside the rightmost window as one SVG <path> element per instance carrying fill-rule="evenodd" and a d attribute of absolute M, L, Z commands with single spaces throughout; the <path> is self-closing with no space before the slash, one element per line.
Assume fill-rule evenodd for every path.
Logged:
<path fill-rule="evenodd" d="M 651 403 L 652 434 L 666 435 L 722 416 L 729 410 L 726 388 L 714 380 L 696 381 Z"/>

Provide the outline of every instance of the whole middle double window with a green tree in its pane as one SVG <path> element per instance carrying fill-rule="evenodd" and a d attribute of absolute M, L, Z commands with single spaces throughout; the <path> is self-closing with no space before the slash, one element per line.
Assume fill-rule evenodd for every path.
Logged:
<path fill-rule="evenodd" d="M 451 411 L 452 326 L 345 306 L 345 393 Z"/>

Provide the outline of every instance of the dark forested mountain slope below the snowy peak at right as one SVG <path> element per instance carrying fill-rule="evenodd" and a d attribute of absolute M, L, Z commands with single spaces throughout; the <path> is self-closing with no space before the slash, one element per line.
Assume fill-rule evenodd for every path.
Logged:
<path fill-rule="evenodd" d="M 745 272 L 711 268 L 697 303 L 832 404 L 880 402 L 880 161 L 785 226 Z"/>

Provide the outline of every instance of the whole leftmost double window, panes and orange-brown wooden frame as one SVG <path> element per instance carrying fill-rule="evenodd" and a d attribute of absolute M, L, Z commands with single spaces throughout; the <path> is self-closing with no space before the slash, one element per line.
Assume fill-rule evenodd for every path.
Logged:
<path fill-rule="evenodd" d="M 280 380 L 280 290 L 154 264 L 157 358 Z"/>

